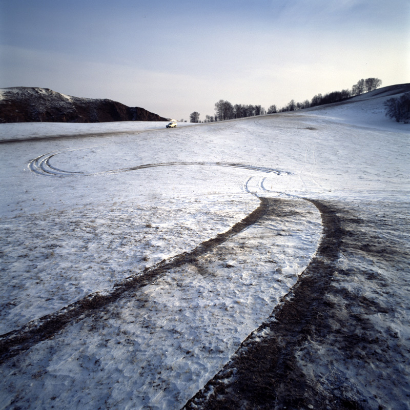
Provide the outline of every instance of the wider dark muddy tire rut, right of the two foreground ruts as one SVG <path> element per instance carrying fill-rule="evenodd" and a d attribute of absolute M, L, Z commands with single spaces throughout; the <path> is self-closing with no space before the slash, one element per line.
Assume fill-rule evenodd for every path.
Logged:
<path fill-rule="evenodd" d="M 203 387 L 184 410 L 236 408 L 305 408 L 312 405 L 295 352 L 311 336 L 325 308 L 343 232 L 339 217 L 326 204 L 310 200 L 320 211 L 323 238 L 316 256 L 271 316 L 245 339 L 232 360 Z M 335 399 L 336 400 L 336 399 Z M 320 398 L 315 398 L 314 407 Z M 342 400 L 339 407 L 344 407 Z M 335 403 L 334 403 L 335 404 Z"/>

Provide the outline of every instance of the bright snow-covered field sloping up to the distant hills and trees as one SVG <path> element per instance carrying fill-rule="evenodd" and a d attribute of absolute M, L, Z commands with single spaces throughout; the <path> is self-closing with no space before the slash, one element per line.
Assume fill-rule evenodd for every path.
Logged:
<path fill-rule="evenodd" d="M 408 246 L 410 125 L 384 117 L 386 98 L 171 130 L 0 125 L 2 140 L 19 140 L 1 145 L 0 408 L 181 408 L 315 256 L 321 215 L 303 198 L 380 216 L 388 206 L 400 231 L 388 234 Z M 408 355 L 408 266 L 350 257 L 345 269 L 372 265 L 401 283 L 389 325 Z M 378 297 L 374 283 L 343 285 Z"/>

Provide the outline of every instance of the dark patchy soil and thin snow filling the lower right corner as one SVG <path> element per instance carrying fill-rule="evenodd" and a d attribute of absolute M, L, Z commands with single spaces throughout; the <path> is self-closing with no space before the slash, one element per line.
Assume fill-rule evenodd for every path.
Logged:
<path fill-rule="evenodd" d="M 316 257 L 184 408 L 410 408 L 408 204 L 313 202 Z"/>

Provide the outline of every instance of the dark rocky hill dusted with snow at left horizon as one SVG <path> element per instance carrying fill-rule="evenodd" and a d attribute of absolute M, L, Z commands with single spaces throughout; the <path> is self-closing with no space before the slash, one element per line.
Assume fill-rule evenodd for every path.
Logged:
<path fill-rule="evenodd" d="M 13 87 L 0 90 L 0 122 L 166 121 L 140 107 L 110 99 L 78 98 L 48 88 Z"/>

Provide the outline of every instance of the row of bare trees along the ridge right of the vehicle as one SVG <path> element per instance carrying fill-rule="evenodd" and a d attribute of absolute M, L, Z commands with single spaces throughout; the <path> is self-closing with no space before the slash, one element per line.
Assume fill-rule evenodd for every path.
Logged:
<path fill-rule="evenodd" d="M 252 117 L 255 115 L 273 114 L 284 111 L 296 111 L 324 104 L 337 103 L 338 101 L 354 97 L 355 95 L 373 91 L 379 88 L 381 84 L 382 81 L 378 78 L 362 78 L 357 81 L 357 84 L 353 85 L 351 90 L 333 91 L 325 95 L 317 94 L 311 100 L 306 99 L 302 103 L 296 103 L 295 100 L 292 99 L 286 106 L 278 109 L 276 105 L 272 105 L 268 108 L 268 111 L 260 105 L 232 105 L 229 101 L 220 99 L 215 103 L 215 115 L 206 115 L 203 122 L 223 121 L 226 119 Z M 190 115 L 190 122 L 201 122 L 199 115 L 197 111 L 194 111 Z"/>

